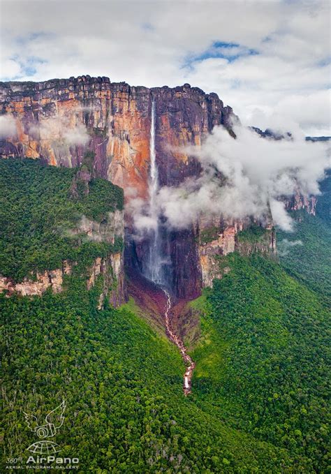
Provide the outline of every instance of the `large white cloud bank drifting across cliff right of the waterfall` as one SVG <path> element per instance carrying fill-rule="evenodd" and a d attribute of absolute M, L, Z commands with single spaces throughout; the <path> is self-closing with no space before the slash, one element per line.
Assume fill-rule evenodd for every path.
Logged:
<path fill-rule="evenodd" d="M 236 140 L 223 127 L 215 127 L 201 147 L 185 149 L 200 161 L 203 172 L 181 186 L 161 188 L 157 213 L 149 212 L 148 203 L 136 200 L 131 205 L 138 230 L 155 228 L 159 215 L 170 228 L 182 229 L 201 216 L 263 221 L 270 213 L 276 225 L 291 230 L 281 198 L 298 190 L 319 193 L 318 182 L 330 167 L 328 145 L 306 142 L 303 135 L 275 141 L 242 126 L 233 129 Z"/>

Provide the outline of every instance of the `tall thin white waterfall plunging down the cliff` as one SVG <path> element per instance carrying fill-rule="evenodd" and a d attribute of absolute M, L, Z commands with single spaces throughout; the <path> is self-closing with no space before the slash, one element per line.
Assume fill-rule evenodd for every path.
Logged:
<path fill-rule="evenodd" d="M 161 255 L 161 235 L 159 228 L 159 211 L 157 208 L 157 194 L 159 191 L 159 170 L 156 163 L 155 151 L 155 101 L 152 97 L 151 131 L 149 140 L 149 216 L 156 221 L 156 226 L 150 232 L 149 258 L 146 275 L 154 283 L 163 284 L 163 262 Z"/>

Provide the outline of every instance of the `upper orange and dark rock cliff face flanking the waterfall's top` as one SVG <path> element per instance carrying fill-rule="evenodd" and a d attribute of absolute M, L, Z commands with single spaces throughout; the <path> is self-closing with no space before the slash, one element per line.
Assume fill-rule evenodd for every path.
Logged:
<path fill-rule="evenodd" d="M 156 102 L 156 151 L 161 184 L 195 175 L 198 164 L 171 150 L 199 144 L 214 125 L 230 126 L 232 109 L 196 87 L 147 89 L 82 76 L 46 82 L 1 82 L 1 114 L 15 119 L 17 134 L 0 143 L 3 156 L 43 157 L 76 166 L 94 151 L 99 177 L 147 194 L 152 96 Z"/>

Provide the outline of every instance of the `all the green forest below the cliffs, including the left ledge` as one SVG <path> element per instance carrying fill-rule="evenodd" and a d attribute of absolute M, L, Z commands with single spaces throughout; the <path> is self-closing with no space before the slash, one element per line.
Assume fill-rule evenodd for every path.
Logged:
<path fill-rule="evenodd" d="M 80 459 L 80 473 L 327 472 L 330 247 L 323 216 L 301 220 L 295 231 L 303 244 L 312 242 L 313 228 L 323 241 L 311 267 L 293 253 L 302 246 L 280 262 L 258 254 L 219 259 L 230 271 L 189 303 L 200 336 L 191 346 L 193 392 L 184 397 L 177 348 L 140 318 L 133 300 L 119 309 L 105 300 L 97 309 L 103 276 L 87 290 L 82 275 L 102 243 L 54 232 L 81 214 L 102 219 L 121 209 L 122 191 L 98 179 L 88 195 L 73 198 L 77 170 L 0 165 L 2 199 L 10 202 L 1 208 L 3 273 L 22 279 L 63 258 L 80 262 L 64 292 L 0 296 L 3 471 L 10 459 L 25 464 L 38 440 L 24 413 L 43 424 L 65 400 L 64 423 L 50 439 L 61 457 Z M 318 255 L 317 245 L 311 252 Z"/>

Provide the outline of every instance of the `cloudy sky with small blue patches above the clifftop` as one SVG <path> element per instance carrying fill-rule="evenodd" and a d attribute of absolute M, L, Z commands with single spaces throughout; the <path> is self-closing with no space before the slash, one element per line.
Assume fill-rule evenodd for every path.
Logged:
<path fill-rule="evenodd" d="M 244 124 L 330 131 L 329 1 L 1 1 L 1 80 L 216 92 Z"/>

